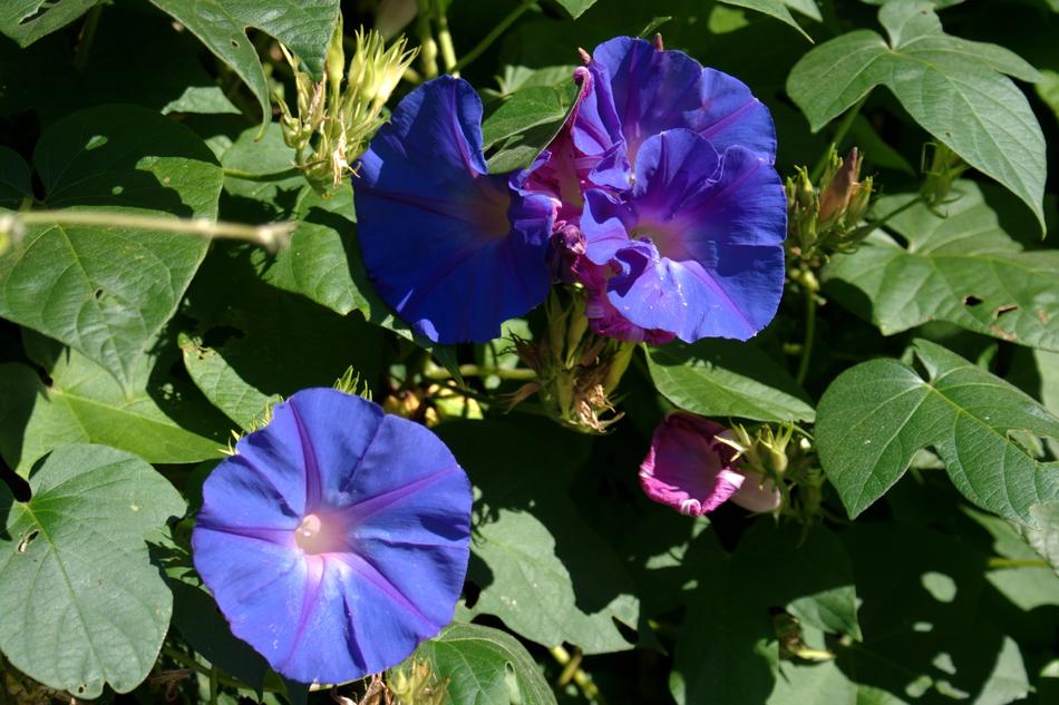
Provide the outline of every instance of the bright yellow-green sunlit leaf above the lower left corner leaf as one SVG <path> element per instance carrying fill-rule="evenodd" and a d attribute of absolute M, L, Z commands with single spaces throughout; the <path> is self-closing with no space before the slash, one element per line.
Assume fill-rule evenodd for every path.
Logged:
<path fill-rule="evenodd" d="M 111 445 L 148 462 L 220 457 L 225 420 L 192 384 L 168 376 L 173 349 L 142 358 L 126 393 L 75 350 L 30 333 L 26 347 L 50 383 L 25 364 L 0 364 L 0 453 L 19 474 L 62 443 Z"/>

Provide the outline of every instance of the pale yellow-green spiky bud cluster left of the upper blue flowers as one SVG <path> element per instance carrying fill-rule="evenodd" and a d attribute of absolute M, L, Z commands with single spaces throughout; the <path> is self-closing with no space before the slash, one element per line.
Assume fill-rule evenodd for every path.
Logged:
<path fill-rule="evenodd" d="M 310 185 L 330 197 L 352 173 L 352 164 L 385 118 L 382 108 L 416 57 L 404 37 L 389 48 L 375 30 L 357 30 L 356 49 L 346 67 L 339 20 L 324 63 L 324 79 L 313 81 L 301 60 L 281 46 L 294 71 L 297 115 L 279 94 L 283 140 L 295 151 L 298 167 Z M 344 88 L 343 88 L 344 75 Z"/>

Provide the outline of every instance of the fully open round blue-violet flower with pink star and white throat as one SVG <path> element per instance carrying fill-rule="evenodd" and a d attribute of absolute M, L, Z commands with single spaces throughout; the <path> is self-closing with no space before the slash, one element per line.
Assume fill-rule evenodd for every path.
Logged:
<path fill-rule="evenodd" d="M 195 568 L 232 633 L 275 670 L 353 680 L 451 620 L 470 484 L 431 431 L 310 389 L 235 451 L 203 486 Z"/>

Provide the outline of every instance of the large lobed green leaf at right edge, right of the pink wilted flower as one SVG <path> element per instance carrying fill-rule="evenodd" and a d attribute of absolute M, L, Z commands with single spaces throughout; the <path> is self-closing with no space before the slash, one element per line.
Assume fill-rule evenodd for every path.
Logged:
<path fill-rule="evenodd" d="M 919 340 L 913 352 L 925 378 L 896 360 L 872 360 L 838 375 L 820 400 L 820 462 L 849 516 L 931 447 L 971 502 L 1033 525 L 1030 507 L 1059 499 L 1059 463 L 1039 462 L 1011 431 L 1059 438 L 1059 418 L 940 345 Z"/>

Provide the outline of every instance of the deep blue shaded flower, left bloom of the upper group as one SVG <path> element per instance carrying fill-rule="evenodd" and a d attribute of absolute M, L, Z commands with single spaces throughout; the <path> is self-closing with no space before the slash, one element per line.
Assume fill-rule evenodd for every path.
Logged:
<path fill-rule="evenodd" d="M 379 295 L 436 342 L 484 342 L 544 301 L 552 202 L 525 174 L 490 175 L 482 101 L 448 76 L 408 94 L 353 176 L 365 266 Z"/>

